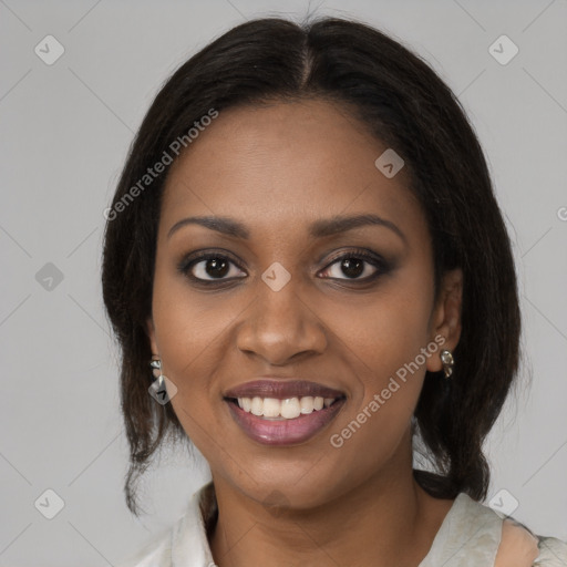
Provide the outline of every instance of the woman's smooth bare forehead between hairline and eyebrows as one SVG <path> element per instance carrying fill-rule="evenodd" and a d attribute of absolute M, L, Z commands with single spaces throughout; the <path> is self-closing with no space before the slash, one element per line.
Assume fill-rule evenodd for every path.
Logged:
<path fill-rule="evenodd" d="M 336 103 L 221 111 L 172 165 L 161 230 L 189 214 L 250 219 L 254 236 L 255 228 L 359 213 L 424 230 L 406 172 L 388 178 L 374 164 L 386 150 Z"/>

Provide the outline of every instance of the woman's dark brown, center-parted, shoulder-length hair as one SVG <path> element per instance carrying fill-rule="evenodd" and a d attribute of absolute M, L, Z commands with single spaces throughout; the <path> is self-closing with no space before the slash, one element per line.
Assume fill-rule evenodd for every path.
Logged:
<path fill-rule="evenodd" d="M 297 24 L 267 18 L 229 30 L 165 83 L 132 144 L 110 209 L 102 286 L 122 351 L 125 495 L 134 514 L 135 484 L 150 457 L 167 433 L 186 435 L 172 404 L 159 405 L 147 391 L 153 377 L 146 320 L 166 174 L 125 199 L 147 168 L 171 154 L 172 142 L 212 109 L 305 97 L 339 103 L 403 157 L 432 235 L 435 290 L 444 271 L 464 272 L 453 379 L 427 372 L 415 412 L 414 433 L 435 471 L 414 474 L 437 497 L 486 496 L 483 442 L 517 371 L 520 319 L 511 244 L 478 141 L 445 83 L 384 33 L 343 19 Z"/>

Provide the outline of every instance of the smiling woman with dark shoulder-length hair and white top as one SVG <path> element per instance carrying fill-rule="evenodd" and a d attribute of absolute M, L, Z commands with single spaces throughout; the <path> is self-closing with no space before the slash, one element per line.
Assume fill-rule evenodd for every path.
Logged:
<path fill-rule="evenodd" d="M 128 507 L 168 434 L 213 478 L 128 565 L 567 565 L 480 503 L 516 277 L 419 58 L 347 20 L 230 30 L 162 89 L 106 216 Z"/>

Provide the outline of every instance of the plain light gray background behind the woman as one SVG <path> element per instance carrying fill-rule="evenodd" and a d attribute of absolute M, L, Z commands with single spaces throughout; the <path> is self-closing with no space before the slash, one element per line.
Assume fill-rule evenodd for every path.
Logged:
<path fill-rule="evenodd" d="M 206 466 L 169 452 L 142 485 L 150 514 L 136 519 L 124 504 L 102 212 L 144 112 L 182 61 L 246 19 L 308 10 L 299 0 L 0 0 L 0 565 L 112 565 L 173 523 L 206 480 Z M 567 539 L 567 1 L 310 10 L 402 40 L 470 113 L 514 240 L 526 329 L 522 384 L 488 443 L 491 497 L 508 491 L 517 519 Z M 52 65 L 34 53 L 48 34 L 65 50 Z M 488 52 L 502 34 L 519 48 L 506 65 Z M 48 262 L 62 281 L 45 279 Z M 48 488 L 64 501 L 53 519 L 34 507 Z"/>

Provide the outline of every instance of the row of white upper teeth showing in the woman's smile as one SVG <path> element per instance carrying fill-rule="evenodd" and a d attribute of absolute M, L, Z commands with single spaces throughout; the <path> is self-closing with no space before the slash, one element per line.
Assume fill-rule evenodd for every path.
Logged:
<path fill-rule="evenodd" d="M 278 400 L 276 398 L 238 398 L 238 406 L 245 412 L 267 419 L 295 420 L 299 415 L 307 415 L 313 411 L 329 408 L 334 398 L 322 398 L 320 395 L 306 395 L 302 398 L 288 398 Z"/>

